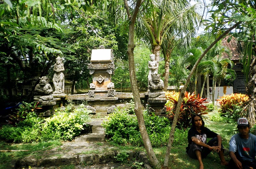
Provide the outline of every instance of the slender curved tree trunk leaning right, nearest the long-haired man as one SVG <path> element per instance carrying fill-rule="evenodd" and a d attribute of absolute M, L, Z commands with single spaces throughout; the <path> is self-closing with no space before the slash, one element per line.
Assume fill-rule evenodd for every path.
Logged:
<path fill-rule="evenodd" d="M 181 103 L 183 101 L 184 95 L 185 95 L 185 91 L 186 88 L 188 87 L 188 83 L 191 79 L 192 74 L 195 72 L 199 62 L 203 59 L 204 55 L 220 40 L 222 39 L 225 35 L 227 35 L 231 30 L 233 30 L 234 28 L 236 28 L 237 25 L 239 25 L 241 22 L 236 23 L 235 25 L 231 26 L 227 31 L 225 31 L 223 34 L 221 34 L 216 40 L 214 40 L 214 42 L 211 43 L 210 46 L 207 47 L 207 49 L 205 49 L 205 51 L 202 53 L 202 55 L 198 58 L 198 60 L 196 61 L 196 64 L 194 65 L 194 67 L 192 68 L 191 72 L 188 75 L 187 81 L 184 85 L 184 88 L 181 89 L 180 91 L 180 95 L 179 95 L 179 99 L 177 102 L 177 106 L 176 106 L 176 110 L 175 110 L 175 115 L 173 117 L 173 121 L 172 121 L 172 129 L 170 132 L 170 136 L 169 136 L 169 140 L 168 140 L 168 144 L 166 147 L 166 153 L 165 153 L 165 158 L 164 158 L 164 169 L 168 169 L 168 163 L 169 163 L 169 157 L 170 157 L 170 152 L 171 152 L 171 148 L 172 148 L 172 143 L 174 140 L 174 131 L 175 131 L 175 127 L 178 121 L 178 117 L 180 115 L 180 106 Z"/>

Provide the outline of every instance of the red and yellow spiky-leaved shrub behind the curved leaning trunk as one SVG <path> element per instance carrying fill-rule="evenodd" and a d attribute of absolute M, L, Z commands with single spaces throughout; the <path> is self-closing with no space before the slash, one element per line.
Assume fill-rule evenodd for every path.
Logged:
<path fill-rule="evenodd" d="M 179 93 L 177 92 L 166 92 L 165 98 L 167 100 L 165 107 L 167 109 L 167 117 L 173 121 L 176 105 L 179 99 Z M 201 98 L 199 95 L 195 95 L 192 93 L 190 95 L 189 92 L 185 92 L 185 96 L 180 106 L 180 115 L 178 118 L 177 126 L 181 129 L 186 129 L 190 126 L 190 119 L 194 114 L 204 115 L 207 114 L 205 112 L 206 106 L 204 106 L 206 98 Z"/>

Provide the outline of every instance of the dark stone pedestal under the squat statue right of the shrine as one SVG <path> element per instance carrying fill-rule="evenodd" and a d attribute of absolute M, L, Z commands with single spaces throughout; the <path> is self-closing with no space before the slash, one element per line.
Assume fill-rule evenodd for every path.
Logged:
<path fill-rule="evenodd" d="M 166 115 L 164 104 L 166 103 L 165 98 L 148 98 L 148 106 L 150 113 L 153 111 L 156 115 Z"/>

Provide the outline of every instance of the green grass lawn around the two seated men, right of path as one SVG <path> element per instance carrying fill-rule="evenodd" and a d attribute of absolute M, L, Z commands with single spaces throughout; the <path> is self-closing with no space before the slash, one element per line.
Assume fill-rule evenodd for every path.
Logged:
<path fill-rule="evenodd" d="M 211 116 L 213 113 L 217 112 L 211 112 L 209 113 L 208 117 Z M 230 123 L 222 123 L 222 122 L 212 122 L 209 120 L 210 118 L 207 118 L 207 121 L 205 121 L 205 127 L 209 128 L 210 130 L 220 134 L 222 137 L 222 144 L 224 146 L 225 151 L 225 158 L 227 161 L 230 160 L 230 157 L 228 155 L 228 149 L 229 149 L 229 140 L 234 134 L 234 126 Z M 184 138 L 187 139 L 187 138 Z M 169 160 L 169 168 L 170 169 L 193 169 L 198 168 L 199 164 L 196 159 L 189 158 L 186 153 L 186 147 L 187 145 L 182 146 L 173 146 L 171 150 L 170 160 Z M 166 148 L 155 148 L 154 151 L 156 152 L 156 155 L 158 159 L 160 159 L 161 163 L 164 163 L 164 156 L 165 156 L 165 150 Z M 220 158 L 218 153 L 212 152 L 210 153 L 206 158 L 203 159 L 204 163 L 204 169 L 224 169 L 228 168 L 225 166 L 220 165 Z"/>

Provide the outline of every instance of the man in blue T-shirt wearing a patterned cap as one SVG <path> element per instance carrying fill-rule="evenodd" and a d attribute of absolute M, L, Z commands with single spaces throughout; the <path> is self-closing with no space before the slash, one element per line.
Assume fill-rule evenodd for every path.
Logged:
<path fill-rule="evenodd" d="M 238 119 L 237 129 L 239 133 L 229 142 L 229 165 L 232 169 L 256 169 L 256 136 L 249 133 L 251 128 L 247 118 Z"/>

